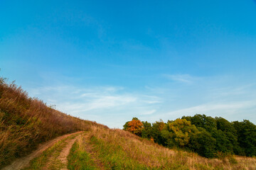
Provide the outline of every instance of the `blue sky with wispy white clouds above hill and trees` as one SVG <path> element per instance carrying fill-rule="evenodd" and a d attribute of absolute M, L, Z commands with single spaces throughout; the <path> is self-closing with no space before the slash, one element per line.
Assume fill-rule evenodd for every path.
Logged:
<path fill-rule="evenodd" d="M 1 76 L 60 111 L 256 123 L 255 1 L 1 1 L 0 16 Z"/>

